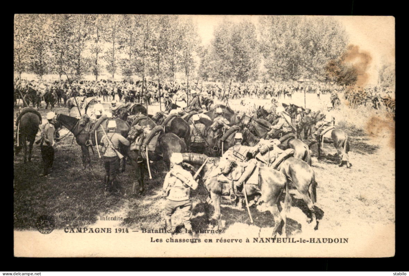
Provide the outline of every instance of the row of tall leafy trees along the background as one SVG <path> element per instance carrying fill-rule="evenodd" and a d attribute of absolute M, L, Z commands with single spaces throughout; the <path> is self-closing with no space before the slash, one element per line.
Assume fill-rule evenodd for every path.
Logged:
<path fill-rule="evenodd" d="M 112 78 L 120 74 L 161 80 L 182 73 L 225 82 L 301 77 L 353 81 L 348 79 L 351 70 L 342 64 L 346 32 L 334 18 L 225 18 L 213 36 L 202 46 L 193 20 L 177 15 L 18 14 L 14 71 L 40 78 L 68 73 L 98 79 L 108 72 Z"/>

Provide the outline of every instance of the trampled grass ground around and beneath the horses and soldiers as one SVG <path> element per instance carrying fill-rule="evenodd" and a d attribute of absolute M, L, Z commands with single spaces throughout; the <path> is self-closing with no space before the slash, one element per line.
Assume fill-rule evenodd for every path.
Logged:
<path fill-rule="evenodd" d="M 241 99 L 232 100 L 234 110 L 252 109 L 254 103 L 268 106 L 270 99 L 249 99 L 245 107 Z M 295 93 L 292 100 L 280 102 L 304 105 L 304 95 Z M 306 106 L 313 111 L 323 110 L 329 95 L 306 95 Z M 108 107 L 108 104 L 105 104 Z M 74 110 L 74 109 L 73 109 Z M 154 114 L 158 105 L 148 108 Z M 17 109 L 15 109 L 15 112 Z M 57 113 L 67 114 L 67 108 L 56 108 Z M 76 115 L 77 111 L 74 111 Z M 336 125 L 350 137 L 351 169 L 338 167 L 338 156 L 332 145 L 324 145 L 324 156 L 317 160 L 317 145 L 312 146 L 312 167 L 315 171 L 317 187 L 317 206 L 324 211 L 319 223 L 318 233 L 326 233 L 353 224 L 354 227 L 374 227 L 374 225 L 393 225 L 395 223 L 395 144 L 394 122 L 383 111 L 369 107 L 350 109 L 344 103 L 339 111 L 332 111 Z M 40 108 L 45 118 L 47 111 Z M 74 116 L 72 115 L 72 116 Z M 64 129 L 61 135 L 67 133 Z M 39 134 L 38 134 L 39 135 Z M 103 164 L 97 153 L 91 153 L 92 168 L 83 170 L 81 150 L 76 142 L 71 146 L 72 136 L 58 143 L 51 177 L 38 178 L 41 173 L 40 149 L 33 149 L 31 163 L 22 163 L 22 153 L 14 158 L 14 228 L 35 229 L 40 215 L 56 218 L 56 228 L 94 225 L 101 221 L 99 216 L 106 214 L 124 218 L 123 227 L 131 229 L 159 229 L 164 226 L 164 198 L 160 197 L 163 179 L 166 174 L 163 162 L 151 165 L 153 179 L 146 177 L 146 192 L 142 196 L 132 196 L 134 183 L 132 167 L 120 175 L 121 190 L 109 197 L 103 194 Z M 208 229 L 205 216 L 204 188 L 200 186 L 193 193 L 193 229 Z M 306 206 L 295 195 L 294 205 L 288 215 L 291 234 L 306 233 Z M 254 224 L 250 225 L 245 209 L 234 206 L 228 200 L 222 204 L 222 220 L 225 234 L 253 231 L 256 235 L 271 233 L 273 220 L 271 214 L 252 208 Z M 173 215 L 173 225 L 183 228 L 178 212 Z"/>

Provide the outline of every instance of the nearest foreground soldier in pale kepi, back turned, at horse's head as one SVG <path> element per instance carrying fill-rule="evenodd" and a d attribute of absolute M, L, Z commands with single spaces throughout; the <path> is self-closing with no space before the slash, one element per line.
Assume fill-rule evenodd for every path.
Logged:
<path fill-rule="evenodd" d="M 184 227 L 193 236 L 191 225 L 192 200 L 191 189 L 196 190 L 198 183 L 189 171 L 182 167 L 183 156 L 175 152 L 171 156 L 171 170 L 166 174 L 163 183 L 163 196 L 167 196 L 165 203 L 165 227 L 172 230 L 171 216 L 180 208 L 183 216 Z"/>

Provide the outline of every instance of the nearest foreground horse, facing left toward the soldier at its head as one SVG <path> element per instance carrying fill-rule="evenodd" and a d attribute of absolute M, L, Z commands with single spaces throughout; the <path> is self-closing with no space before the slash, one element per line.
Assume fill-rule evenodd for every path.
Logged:
<path fill-rule="evenodd" d="M 230 193 L 229 183 L 222 183 L 217 180 L 217 173 L 220 172 L 220 159 L 219 157 L 207 157 L 205 154 L 193 154 L 185 153 L 183 155 L 184 163 L 191 165 L 194 169 L 198 169 L 206 160 L 205 166 L 200 171 L 199 175 L 204 180 L 205 189 L 209 192 L 209 197 L 214 207 L 213 219 L 216 220 L 217 228 L 222 230 L 220 203 L 222 196 L 228 196 Z M 231 172 L 231 168 L 234 164 L 227 164 L 225 167 L 226 174 L 234 174 L 233 179 L 238 179 L 235 171 Z M 227 169 L 226 169 L 227 168 Z M 258 171 L 258 185 L 245 184 L 243 189 L 249 198 L 254 198 L 261 194 L 258 202 L 263 203 L 265 207 L 270 211 L 274 218 L 274 228 L 272 236 L 276 236 L 281 221 L 286 221 L 286 217 L 281 216 L 279 211 L 280 200 L 279 196 L 283 191 L 286 183 L 286 178 L 283 173 L 272 169 L 270 167 L 260 167 Z M 280 206 L 281 207 L 281 206 Z M 288 209 L 288 208 L 285 208 Z M 285 214 L 285 213 L 284 213 Z M 285 234 L 283 232 L 283 234 Z"/>

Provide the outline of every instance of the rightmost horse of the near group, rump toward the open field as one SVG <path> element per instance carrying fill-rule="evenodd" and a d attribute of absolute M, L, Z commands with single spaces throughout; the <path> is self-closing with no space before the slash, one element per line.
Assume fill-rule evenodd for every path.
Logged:
<path fill-rule="evenodd" d="M 318 158 L 321 158 L 321 139 L 323 139 L 322 135 L 315 136 L 315 131 L 317 131 L 316 125 L 312 127 L 312 137 L 315 138 L 315 141 L 310 143 L 313 145 L 314 143 L 318 142 Z M 349 147 L 349 140 L 348 135 L 342 131 L 341 129 L 331 129 L 324 134 L 324 143 L 333 144 L 337 153 L 339 155 L 339 167 L 344 165 L 344 161 L 346 162 L 346 167 L 351 168 L 351 163 L 349 162 L 348 152 L 350 150 Z"/>

